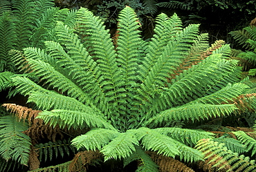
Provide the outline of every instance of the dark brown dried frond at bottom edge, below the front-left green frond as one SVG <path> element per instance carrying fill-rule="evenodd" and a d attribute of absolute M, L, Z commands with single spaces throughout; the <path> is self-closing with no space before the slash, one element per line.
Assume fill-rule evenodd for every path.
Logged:
<path fill-rule="evenodd" d="M 79 152 L 75 154 L 75 157 L 71 160 L 68 170 L 71 172 L 86 171 L 89 164 L 91 164 L 93 160 L 100 159 L 100 157 L 102 157 L 102 154 L 99 151 Z"/>

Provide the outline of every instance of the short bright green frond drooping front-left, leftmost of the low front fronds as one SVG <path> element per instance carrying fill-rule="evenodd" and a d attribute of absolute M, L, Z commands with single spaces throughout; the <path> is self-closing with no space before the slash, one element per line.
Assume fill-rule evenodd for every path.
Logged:
<path fill-rule="evenodd" d="M 75 137 L 71 142 L 76 149 L 85 148 L 87 150 L 100 150 L 109 144 L 111 140 L 119 135 L 118 131 L 105 128 L 94 128 L 84 135 Z"/>

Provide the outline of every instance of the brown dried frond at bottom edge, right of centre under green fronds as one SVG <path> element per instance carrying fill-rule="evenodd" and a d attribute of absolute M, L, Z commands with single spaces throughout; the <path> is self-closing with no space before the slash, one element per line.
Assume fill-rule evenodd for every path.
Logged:
<path fill-rule="evenodd" d="M 158 155 L 157 153 L 152 151 L 147 151 L 147 154 L 149 154 L 152 160 L 154 160 L 154 162 L 158 164 L 159 171 L 161 172 L 170 172 L 170 171 L 194 172 L 194 170 L 190 169 L 190 167 L 186 166 L 183 162 L 180 162 L 179 160 L 174 160 L 172 157 Z"/>

